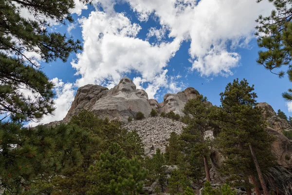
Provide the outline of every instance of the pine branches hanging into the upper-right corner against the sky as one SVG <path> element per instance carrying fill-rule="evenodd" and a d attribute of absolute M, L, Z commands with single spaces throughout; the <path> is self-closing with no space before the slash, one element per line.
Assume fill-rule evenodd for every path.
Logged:
<path fill-rule="evenodd" d="M 262 0 L 257 0 L 260 2 Z M 283 65 L 288 66 L 287 75 L 292 81 L 292 1 L 291 0 L 269 0 L 274 4 L 275 10 L 268 17 L 259 16 L 256 20 L 258 36 L 257 42 L 260 48 L 265 50 L 258 52 L 257 63 L 263 65 L 271 73 L 282 78 L 285 74 L 283 70 L 275 72 Z M 283 98 L 292 100 L 292 89 L 282 93 Z"/>

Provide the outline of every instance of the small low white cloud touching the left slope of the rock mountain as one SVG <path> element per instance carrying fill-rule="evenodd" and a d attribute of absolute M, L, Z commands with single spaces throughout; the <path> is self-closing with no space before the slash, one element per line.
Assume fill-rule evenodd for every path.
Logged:
<path fill-rule="evenodd" d="M 58 78 L 53 78 L 51 81 L 55 83 L 55 115 L 44 116 L 43 119 L 38 123 L 30 122 L 29 125 L 31 126 L 36 126 L 40 123 L 46 124 L 52 121 L 62 120 L 71 107 L 71 103 L 74 100 L 75 94 L 75 90 L 73 89 L 73 83 L 64 83 L 61 79 Z"/>

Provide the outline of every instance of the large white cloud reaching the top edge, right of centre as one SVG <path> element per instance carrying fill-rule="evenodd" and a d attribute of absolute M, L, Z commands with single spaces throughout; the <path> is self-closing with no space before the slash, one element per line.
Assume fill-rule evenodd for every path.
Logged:
<path fill-rule="evenodd" d="M 193 70 L 201 75 L 232 74 L 240 59 L 232 49 L 246 46 L 253 38 L 259 14 L 269 15 L 272 4 L 255 0 L 128 0 L 140 20 L 151 13 L 170 30 L 170 37 L 191 40 Z M 161 33 L 150 30 L 149 35 Z M 215 49 L 216 48 L 216 49 Z M 226 59 L 225 59 L 226 57 Z M 219 60 L 216 64 L 216 60 Z M 210 64 L 211 63 L 211 64 Z M 219 64 L 220 63 L 220 64 Z"/>

